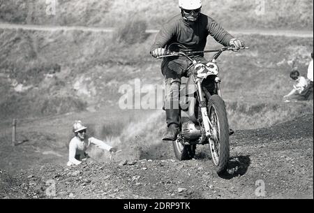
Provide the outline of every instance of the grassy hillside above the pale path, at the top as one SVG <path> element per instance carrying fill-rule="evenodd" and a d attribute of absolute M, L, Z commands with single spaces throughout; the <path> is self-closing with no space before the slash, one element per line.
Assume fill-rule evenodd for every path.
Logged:
<path fill-rule="evenodd" d="M 46 14 L 47 5 L 45 0 L 0 0 L 0 20 L 22 24 L 117 27 L 137 14 L 147 22 L 149 29 L 157 29 L 179 12 L 177 0 L 58 0 L 56 15 Z M 221 0 L 204 1 L 203 5 L 203 13 L 211 15 L 227 29 L 313 29 L 312 0 Z M 259 9 L 261 6 L 262 10 Z"/>

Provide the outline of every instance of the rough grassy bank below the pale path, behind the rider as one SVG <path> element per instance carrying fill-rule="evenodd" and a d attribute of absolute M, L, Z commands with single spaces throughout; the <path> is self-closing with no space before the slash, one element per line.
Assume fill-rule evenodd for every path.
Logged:
<path fill-rule="evenodd" d="M 155 35 L 138 38 L 132 30 L 128 37 L 116 35 L 0 30 L 1 119 L 118 108 L 121 85 L 134 89 L 135 78 L 142 85 L 161 85 L 160 60 L 149 55 Z M 292 66 L 306 75 L 311 38 L 237 36 L 250 49 L 226 52 L 218 59 L 232 126 L 251 128 L 256 120 L 267 126 L 311 111 L 311 104 L 295 110 L 282 105 L 292 89 Z M 220 45 L 210 38 L 207 49 L 215 47 Z"/>

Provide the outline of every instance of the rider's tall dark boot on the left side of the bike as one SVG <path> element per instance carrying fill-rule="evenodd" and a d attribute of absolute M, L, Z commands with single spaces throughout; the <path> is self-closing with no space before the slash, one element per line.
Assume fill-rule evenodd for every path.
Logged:
<path fill-rule="evenodd" d="M 165 111 L 166 111 L 168 128 L 165 134 L 163 135 L 162 140 L 177 140 L 177 136 L 179 134 L 180 110 L 166 109 Z"/>

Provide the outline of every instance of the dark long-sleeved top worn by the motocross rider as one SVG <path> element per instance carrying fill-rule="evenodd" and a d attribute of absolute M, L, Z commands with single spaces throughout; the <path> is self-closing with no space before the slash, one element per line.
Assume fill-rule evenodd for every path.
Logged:
<path fill-rule="evenodd" d="M 234 38 L 207 15 L 200 13 L 200 17 L 196 22 L 187 22 L 179 14 L 160 29 L 154 44 L 151 46 L 151 52 L 157 48 L 165 48 L 166 45 L 171 43 L 185 45 L 189 51 L 202 51 L 206 46 L 207 36 L 209 35 L 224 46 L 227 46 L 230 40 Z M 179 51 L 184 50 L 179 48 Z"/>

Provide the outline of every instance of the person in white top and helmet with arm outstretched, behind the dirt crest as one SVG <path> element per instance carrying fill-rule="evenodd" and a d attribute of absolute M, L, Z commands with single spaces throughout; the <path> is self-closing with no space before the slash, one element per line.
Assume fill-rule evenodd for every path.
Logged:
<path fill-rule="evenodd" d="M 79 165 L 82 161 L 88 159 L 89 156 L 85 151 L 91 144 L 96 145 L 100 149 L 107 150 L 111 154 L 117 152 L 117 148 L 107 145 L 102 140 L 89 137 L 86 131 L 87 127 L 81 121 L 75 121 L 73 124 L 73 133 L 75 136 L 70 140 L 67 166 Z"/>

